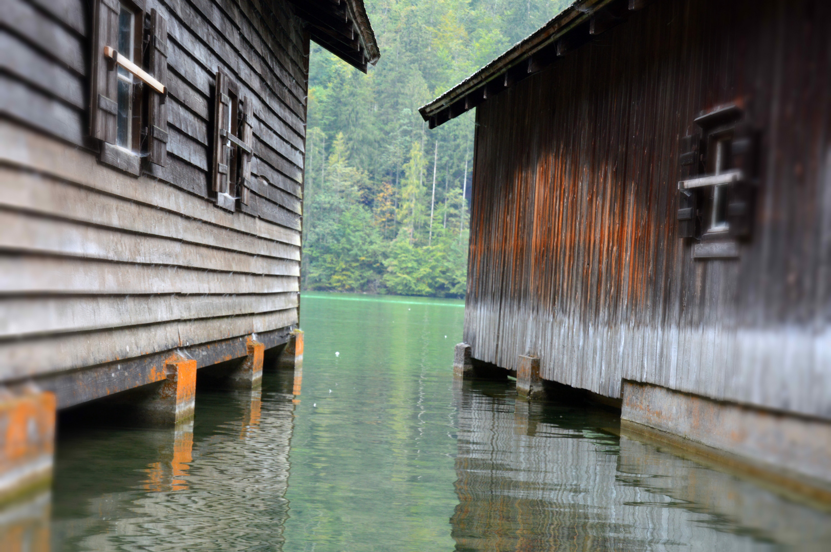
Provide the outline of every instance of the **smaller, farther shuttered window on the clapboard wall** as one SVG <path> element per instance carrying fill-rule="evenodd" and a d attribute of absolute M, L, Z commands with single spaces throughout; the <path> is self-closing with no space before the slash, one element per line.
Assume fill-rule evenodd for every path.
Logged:
<path fill-rule="evenodd" d="M 214 94 L 213 191 L 216 204 L 229 211 L 251 212 L 253 107 L 224 71 L 216 73 Z"/>

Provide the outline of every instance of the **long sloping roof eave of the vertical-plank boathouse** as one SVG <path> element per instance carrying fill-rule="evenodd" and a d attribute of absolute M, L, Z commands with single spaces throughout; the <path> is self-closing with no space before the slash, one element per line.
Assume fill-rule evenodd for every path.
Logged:
<path fill-rule="evenodd" d="M 654 0 L 577 0 L 509 51 L 419 108 L 430 129 L 543 71 Z"/>

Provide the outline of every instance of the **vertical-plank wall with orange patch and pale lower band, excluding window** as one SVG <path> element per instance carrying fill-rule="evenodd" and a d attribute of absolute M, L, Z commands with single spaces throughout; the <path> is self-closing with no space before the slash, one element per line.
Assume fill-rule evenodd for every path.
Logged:
<path fill-rule="evenodd" d="M 480 105 L 474 358 L 831 417 L 829 24 L 827 2 L 661 0 Z M 736 100 L 762 130 L 755 232 L 693 261 L 678 141 Z"/>

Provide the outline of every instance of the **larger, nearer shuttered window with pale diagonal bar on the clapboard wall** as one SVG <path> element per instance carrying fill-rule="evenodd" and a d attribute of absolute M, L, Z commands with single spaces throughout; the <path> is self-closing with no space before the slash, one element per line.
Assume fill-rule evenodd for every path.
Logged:
<path fill-rule="evenodd" d="M 145 0 L 96 0 L 91 135 L 101 162 L 138 175 L 167 162 L 167 23 Z"/>

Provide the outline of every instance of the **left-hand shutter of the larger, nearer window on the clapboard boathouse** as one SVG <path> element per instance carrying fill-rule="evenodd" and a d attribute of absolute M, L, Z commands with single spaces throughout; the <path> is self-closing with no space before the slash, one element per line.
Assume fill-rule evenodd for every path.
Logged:
<path fill-rule="evenodd" d="M 97 0 L 95 40 L 92 44 L 92 115 L 93 138 L 115 144 L 118 124 L 118 79 L 116 64 L 104 57 L 104 46 L 118 47 L 118 0 Z"/>

